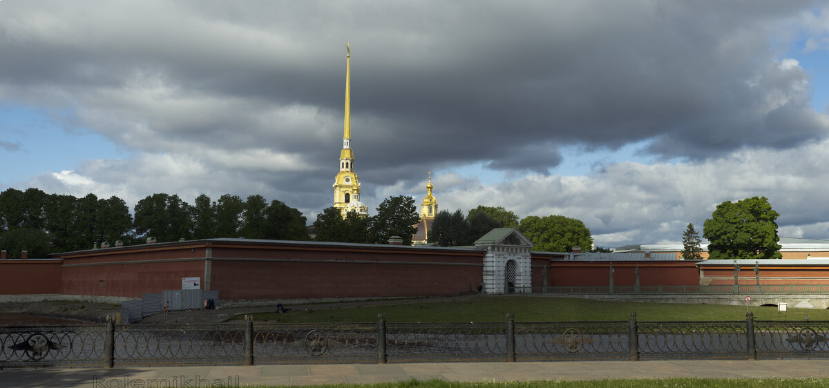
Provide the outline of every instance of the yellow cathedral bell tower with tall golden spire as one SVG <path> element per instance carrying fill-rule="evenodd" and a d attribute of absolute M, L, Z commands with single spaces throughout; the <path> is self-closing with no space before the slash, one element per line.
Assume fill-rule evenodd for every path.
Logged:
<path fill-rule="evenodd" d="M 342 125 L 340 172 L 334 177 L 334 207 L 345 217 L 349 211 L 368 216 L 368 206 L 360 201 L 360 183 L 354 173 L 354 153 L 351 151 L 351 48 L 346 45 L 346 114 Z"/>

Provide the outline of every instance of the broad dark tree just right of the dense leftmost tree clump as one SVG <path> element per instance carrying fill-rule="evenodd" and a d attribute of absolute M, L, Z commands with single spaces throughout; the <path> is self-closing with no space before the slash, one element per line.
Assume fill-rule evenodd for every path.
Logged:
<path fill-rule="evenodd" d="M 177 195 L 164 193 L 147 196 L 135 205 L 135 233 L 155 237 L 159 242 L 189 239 L 190 206 Z"/>

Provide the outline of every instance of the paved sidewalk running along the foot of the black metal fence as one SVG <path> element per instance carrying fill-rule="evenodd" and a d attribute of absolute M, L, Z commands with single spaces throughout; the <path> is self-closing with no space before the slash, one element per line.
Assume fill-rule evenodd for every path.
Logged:
<path fill-rule="evenodd" d="M 297 386 L 410 379 L 446 381 L 601 380 L 667 377 L 827 377 L 829 360 L 448 362 L 263 366 L 6 369 L 2 387 Z"/>

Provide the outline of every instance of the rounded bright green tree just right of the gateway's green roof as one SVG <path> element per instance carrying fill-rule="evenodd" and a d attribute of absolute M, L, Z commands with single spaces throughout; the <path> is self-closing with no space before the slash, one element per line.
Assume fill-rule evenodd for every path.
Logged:
<path fill-rule="evenodd" d="M 521 220 L 521 233 L 535 245 L 532 250 L 572 252 L 574 245 L 584 250 L 593 246 L 593 236 L 584 222 L 565 216 L 528 216 Z"/>

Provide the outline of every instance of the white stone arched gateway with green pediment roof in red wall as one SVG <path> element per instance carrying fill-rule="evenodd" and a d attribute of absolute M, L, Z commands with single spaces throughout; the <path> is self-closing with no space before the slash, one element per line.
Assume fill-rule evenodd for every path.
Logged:
<path fill-rule="evenodd" d="M 487 255 L 483 257 L 485 293 L 531 292 L 530 250 L 533 244 L 526 235 L 516 228 L 497 228 L 475 241 L 475 246 L 487 249 Z"/>

